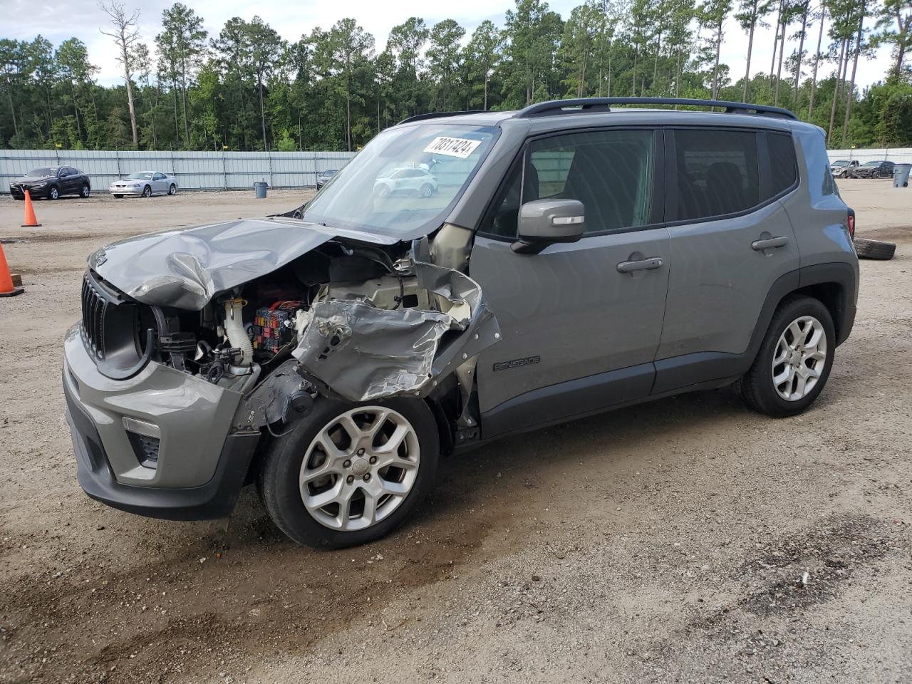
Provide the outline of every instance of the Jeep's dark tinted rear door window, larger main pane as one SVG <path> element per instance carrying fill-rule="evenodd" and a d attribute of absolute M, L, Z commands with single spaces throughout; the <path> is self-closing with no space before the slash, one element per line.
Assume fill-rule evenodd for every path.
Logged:
<path fill-rule="evenodd" d="M 676 130 L 679 221 L 743 212 L 760 203 L 757 134 Z"/>

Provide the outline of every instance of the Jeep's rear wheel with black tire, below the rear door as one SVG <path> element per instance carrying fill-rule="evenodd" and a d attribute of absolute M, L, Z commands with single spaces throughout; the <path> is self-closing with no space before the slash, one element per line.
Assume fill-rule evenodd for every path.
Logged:
<path fill-rule="evenodd" d="M 804 327 L 801 325 L 804 322 Z M 813 323 L 812 323 L 813 321 Z M 797 329 L 810 337 L 806 342 L 818 339 L 814 348 L 816 353 L 803 355 L 803 345 L 791 351 L 792 347 L 782 346 L 781 342 L 789 342 L 788 337 L 794 337 L 792 331 Z M 819 333 L 819 337 L 817 335 Z M 821 347 L 820 343 L 823 343 Z M 810 347 L 810 346 L 809 346 Z M 830 377 L 830 368 L 833 367 L 834 351 L 836 348 L 836 333 L 833 317 L 820 300 L 803 295 L 789 295 L 782 300 L 772 316 L 770 326 L 763 337 L 760 351 L 754 359 L 751 369 L 738 381 L 741 399 L 755 411 L 765 413 L 772 418 L 786 418 L 802 413 L 824 389 L 826 379 Z M 824 358 L 819 358 L 823 349 Z M 777 356 L 785 356 L 784 362 L 775 364 Z M 791 365 L 805 368 L 804 372 L 789 372 Z M 814 378 L 807 378 L 805 374 L 819 373 Z M 782 378 L 781 385 L 776 384 L 774 377 Z M 813 379 L 813 382 L 812 382 Z M 811 387 L 807 387 L 811 383 Z M 780 391 L 792 393 L 792 398 L 786 399 Z"/>

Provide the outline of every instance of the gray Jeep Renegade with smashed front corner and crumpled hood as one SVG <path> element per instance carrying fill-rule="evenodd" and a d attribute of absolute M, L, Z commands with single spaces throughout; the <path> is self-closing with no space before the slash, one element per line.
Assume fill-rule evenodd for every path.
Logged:
<path fill-rule="evenodd" d="M 436 190 L 382 192 L 393 170 Z M 63 371 L 78 479 L 182 520 L 255 482 L 285 534 L 339 547 L 506 434 L 731 383 L 793 416 L 852 329 L 854 223 L 823 132 L 784 109 L 413 117 L 294 211 L 89 257 Z"/>

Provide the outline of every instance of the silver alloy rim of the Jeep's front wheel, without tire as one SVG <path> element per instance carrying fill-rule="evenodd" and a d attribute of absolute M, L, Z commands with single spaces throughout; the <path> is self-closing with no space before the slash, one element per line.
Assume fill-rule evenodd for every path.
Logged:
<path fill-rule="evenodd" d="M 363 530 L 399 508 L 419 465 L 418 434 L 401 413 L 380 406 L 350 409 L 327 422 L 307 447 L 301 500 L 325 527 Z"/>

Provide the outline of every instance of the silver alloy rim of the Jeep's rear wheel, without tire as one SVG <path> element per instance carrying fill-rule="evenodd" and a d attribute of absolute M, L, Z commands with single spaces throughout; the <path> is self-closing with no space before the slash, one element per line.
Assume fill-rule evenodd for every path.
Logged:
<path fill-rule="evenodd" d="M 772 357 L 772 384 L 782 399 L 798 401 L 816 386 L 826 363 L 826 332 L 814 316 L 786 326 Z"/>

